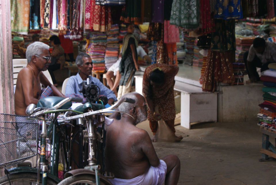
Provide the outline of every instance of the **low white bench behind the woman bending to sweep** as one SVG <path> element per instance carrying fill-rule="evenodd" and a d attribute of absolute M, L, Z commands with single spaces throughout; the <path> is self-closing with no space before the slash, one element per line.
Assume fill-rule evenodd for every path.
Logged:
<path fill-rule="evenodd" d="M 143 76 L 135 76 L 135 91 L 142 94 Z M 175 81 L 175 91 L 181 92 L 181 126 L 217 121 L 217 93 L 204 92 L 201 87 Z"/>

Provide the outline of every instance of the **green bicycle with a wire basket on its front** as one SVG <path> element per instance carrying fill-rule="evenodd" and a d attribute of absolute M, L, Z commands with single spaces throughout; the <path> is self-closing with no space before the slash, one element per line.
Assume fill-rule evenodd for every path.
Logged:
<path fill-rule="evenodd" d="M 70 101 L 73 102 L 82 102 L 82 98 L 61 98 L 61 97 L 47 97 L 43 98 L 41 104 L 38 104 L 41 107 L 35 108 L 34 104 L 31 104 L 27 107 L 26 113 L 32 114 L 31 116 L 18 116 L 18 115 L 9 115 L 10 120 L 7 116 L 1 119 L 3 128 L 3 136 L 6 138 L 5 140 L 0 140 L 0 152 L 9 153 L 10 156 L 14 156 L 14 147 L 19 151 L 19 155 L 4 159 L 5 161 L 0 163 L 0 166 L 9 166 L 16 165 L 29 157 L 37 156 L 38 157 L 38 127 L 39 121 L 41 122 L 41 134 L 40 134 L 40 158 L 39 158 L 39 167 L 15 167 L 8 170 L 5 170 L 6 175 L 0 178 L 0 184 L 57 184 L 60 182 L 60 179 L 57 177 L 59 164 L 62 163 L 63 171 L 66 173 L 69 171 L 69 161 L 68 161 L 68 136 L 65 132 L 62 131 L 62 126 L 70 124 L 63 123 L 62 121 L 58 121 L 58 119 L 62 120 L 62 114 L 68 111 L 68 108 L 72 105 Z M 46 105 L 42 107 L 42 105 Z M 58 110 L 58 108 L 62 108 Z M 57 109 L 57 110 L 56 110 Z M 82 114 L 82 112 L 74 111 L 77 114 Z M 24 121 L 20 121 L 23 119 Z M 36 127 L 30 127 L 30 121 L 32 120 L 35 123 Z M 48 128 L 46 129 L 46 122 L 50 122 Z M 5 125 L 6 123 L 6 125 Z M 7 125 L 9 123 L 9 125 Z M 23 126 L 27 127 L 24 128 Z M 19 130 L 20 127 L 20 130 Z M 11 130 L 13 133 L 7 133 L 6 130 Z M 8 137 L 13 136 L 13 138 Z M 48 136 L 48 137 L 47 137 Z M 50 138 L 49 138 L 50 136 Z M 3 138 L 3 137 L 2 137 Z M 30 140 L 30 138 L 32 140 Z M 35 138 L 35 140 L 34 140 Z M 47 141 L 51 141 L 51 166 L 48 171 L 48 161 L 46 154 L 47 151 Z M 30 145 L 29 143 L 33 144 Z M 67 142 L 67 144 L 66 144 Z M 18 157 L 22 155 L 22 147 L 20 144 L 24 144 L 28 154 L 23 158 Z M 9 145 L 8 145 L 9 144 Z M 61 145 L 60 145 L 61 144 Z M 32 146 L 36 146 L 35 149 Z M 21 153 L 20 153 L 21 152 Z M 60 156 L 61 154 L 61 156 Z M 61 161 L 59 161 L 62 159 Z M 37 161 L 37 160 L 36 160 Z M 37 164 L 36 164 L 37 166 Z"/>

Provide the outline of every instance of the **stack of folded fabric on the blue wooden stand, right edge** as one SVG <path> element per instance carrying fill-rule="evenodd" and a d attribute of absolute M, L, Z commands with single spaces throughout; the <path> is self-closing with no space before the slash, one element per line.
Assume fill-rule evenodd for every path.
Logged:
<path fill-rule="evenodd" d="M 261 81 L 265 87 L 262 88 L 264 102 L 259 104 L 258 125 L 276 131 L 276 63 L 268 65 L 269 70 L 263 71 Z"/>

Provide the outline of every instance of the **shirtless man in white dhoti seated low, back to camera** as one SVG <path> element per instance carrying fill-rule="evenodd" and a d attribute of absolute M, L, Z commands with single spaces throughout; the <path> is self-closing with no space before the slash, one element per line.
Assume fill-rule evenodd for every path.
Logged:
<path fill-rule="evenodd" d="M 176 155 L 162 160 L 156 155 L 147 131 L 136 127 L 147 119 L 147 105 L 142 95 L 134 92 L 123 97 L 135 104 L 122 103 L 118 110 L 127 112 L 108 126 L 106 133 L 106 171 L 114 173 L 112 184 L 177 184 L 180 161 Z M 116 113 L 110 116 L 116 117 Z"/>

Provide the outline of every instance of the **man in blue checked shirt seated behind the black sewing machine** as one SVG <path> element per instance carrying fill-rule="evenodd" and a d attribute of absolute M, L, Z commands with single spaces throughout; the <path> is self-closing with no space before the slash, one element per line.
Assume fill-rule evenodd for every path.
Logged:
<path fill-rule="evenodd" d="M 71 96 L 72 94 L 83 96 L 80 92 L 82 83 L 83 80 L 89 78 L 89 83 L 97 85 L 100 89 L 100 95 L 105 95 L 108 99 L 108 104 L 112 105 L 114 101 L 117 101 L 114 92 L 104 86 L 99 79 L 89 76 L 92 73 L 92 64 L 92 60 L 88 54 L 81 53 L 76 57 L 76 65 L 79 72 L 77 75 L 69 78 L 66 84 L 65 96 Z"/>

